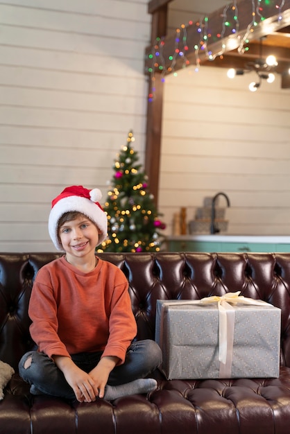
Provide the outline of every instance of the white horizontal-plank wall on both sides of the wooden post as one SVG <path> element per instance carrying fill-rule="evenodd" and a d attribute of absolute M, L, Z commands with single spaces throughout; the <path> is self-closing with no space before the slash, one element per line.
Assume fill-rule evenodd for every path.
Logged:
<path fill-rule="evenodd" d="M 135 134 L 144 161 L 146 0 L 0 1 L 0 251 L 54 250 L 50 201 L 99 186 Z M 225 191 L 229 232 L 290 234 L 290 91 L 186 69 L 165 83 L 160 211 Z"/>

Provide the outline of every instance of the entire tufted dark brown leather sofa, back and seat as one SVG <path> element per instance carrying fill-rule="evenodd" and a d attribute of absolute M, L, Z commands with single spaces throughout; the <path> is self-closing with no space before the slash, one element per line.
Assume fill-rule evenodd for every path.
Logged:
<path fill-rule="evenodd" d="M 17 370 L 33 347 L 27 306 L 35 273 L 53 253 L 0 254 L 0 360 Z M 289 434 L 290 254 L 101 254 L 130 282 L 137 338 L 154 338 L 158 299 L 241 291 L 282 309 L 278 379 L 172 380 L 156 372 L 149 396 L 77 403 L 33 397 L 16 373 L 0 401 L 1 434 Z"/>

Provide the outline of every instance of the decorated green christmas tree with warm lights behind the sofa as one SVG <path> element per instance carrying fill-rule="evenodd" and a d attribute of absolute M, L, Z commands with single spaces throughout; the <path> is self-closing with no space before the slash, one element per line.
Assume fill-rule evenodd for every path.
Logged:
<path fill-rule="evenodd" d="M 108 239 L 98 251 L 158 252 L 160 229 L 165 225 L 158 218 L 154 197 L 148 191 L 146 173 L 138 164 L 138 155 L 132 147 L 135 138 L 128 134 L 115 161 L 112 186 L 103 206 L 108 215 Z"/>

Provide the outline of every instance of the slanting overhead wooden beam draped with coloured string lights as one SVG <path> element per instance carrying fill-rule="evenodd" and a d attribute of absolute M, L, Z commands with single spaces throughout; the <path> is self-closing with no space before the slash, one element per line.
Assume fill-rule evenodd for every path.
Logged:
<path fill-rule="evenodd" d="M 279 31 L 281 28 L 285 28 L 290 24 L 290 0 L 284 1 L 284 6 L 280 13 L 276 8 L 275 2 L 271 2 L 270 5 L 264 6 L 263 17 L 264 20 L 257 23 L 257 25 L 250 26 L 253 21 L 253 2 L 250 0 L 240 0 L 237 3 L 239 10 L 239 31 L 236 34 L 232 33 L 230 26 L 224 26 L 224 8 L 212 12 L 207 17 L 207 51 L 210 51 L 213 56 L 219 56 L 221 53 L 228 53 L 234 49 L 238 49 L 241 45 L 241 40 L 247 34 L 247 39 L 258 40 L 259 38 Z M 228 8 L 227 17 L 229 21 L 234 21 L 234 10 Z M 280 19 L 279 19 L 280 17 Z M 203 24 L 205 26 L 205 24 Z M 250 31 L 249 31 L 250 26 Z M 224 33 L 222 34 L 222 29 Z M 189 64 L 196 64 L 197 50 L 198 49 L 198 61 L 201 63 L 208 60 L 208 55 L 205 50 L 201 49 L 201 33 L 198 33 L 198 26 L 196 23 L 186 26 L 187 33 L 187 51 L 184 50 L 184 43 L 182 41 L 182 29 L 180 29 L 180 42 L 179 46 L 176 46 L 176 34 L 167 35 L 162 38 L 162 58 L 164 59 L 161 65 L 164 73 L 170 73 L 172 71 L 172 59 L 171 56 L 176 52 L 176 49 L 185 52 Z M 166 33 L 160 33 L 158 37 L 163 37 Z M 222 35 L 223 37 L 219 37 Z M 146 49 L 146 61 L 145 72 L 149 73 L 153 67 L 153 60 L 149 58 L 150 55 L 155 56 L 154 43 L 152 46 Z M 158 58 L 159 59 L 159 58 Z M 177 56 L 174 64 L 174 71 L 182 69 L 184 67 L 184 58 Z M 160 72 L 160 64 L 157 61 L 157 67 L 155 72 Z"/>

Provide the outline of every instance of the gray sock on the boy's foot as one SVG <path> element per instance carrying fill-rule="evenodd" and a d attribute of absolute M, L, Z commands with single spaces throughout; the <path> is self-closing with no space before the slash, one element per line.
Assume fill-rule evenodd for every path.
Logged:
<path fill-rule="evenodd" d="M 130 394 L 153 392 L 157 387 L 157 381 L 154 379 L 137 379 L 130 383 L 120 385 L 107 385 L 105 388 L 104 399 L 112 401 Z"/>

